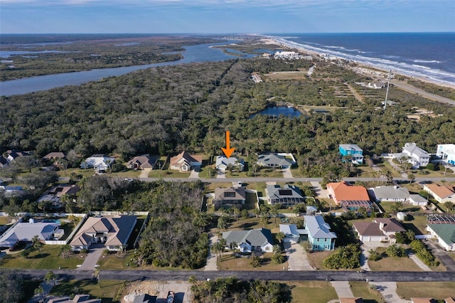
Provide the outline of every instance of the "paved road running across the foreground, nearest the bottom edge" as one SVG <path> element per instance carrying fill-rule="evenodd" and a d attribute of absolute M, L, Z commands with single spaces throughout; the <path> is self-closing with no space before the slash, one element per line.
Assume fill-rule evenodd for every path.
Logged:
<path fill-rule="evenodd" d="M 16 270 L 26 279 L 43 278 L 48 270 Z M 68 279 L 91 279 L 92 270 L 53 270 L 60 277 Z M 353 271 L 226 271 L 226 270 L 102 270 L 100 277 L 108 280 L 188 280 L 194 275 L 198 280 L 218 277 L 238 277 L 241 280 L 260 278 L 276 281 L 365 281 L 368 282 L 441 282 L 455 281 L 455 272 L 353 272 Z"/>

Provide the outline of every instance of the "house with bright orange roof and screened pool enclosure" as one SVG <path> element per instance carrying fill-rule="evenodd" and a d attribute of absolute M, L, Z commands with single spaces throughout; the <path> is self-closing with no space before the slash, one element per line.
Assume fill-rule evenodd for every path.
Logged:
<path fill-rule="evenodd" d="M 363 186 L 352 186 L 346 182 L 327 184 L 328 197 L 332 198 L 337 205 L 341 205 L 343 211 L 358 211 L 361 207 L 367 212 L 371 211 L 370 196 Z"/>

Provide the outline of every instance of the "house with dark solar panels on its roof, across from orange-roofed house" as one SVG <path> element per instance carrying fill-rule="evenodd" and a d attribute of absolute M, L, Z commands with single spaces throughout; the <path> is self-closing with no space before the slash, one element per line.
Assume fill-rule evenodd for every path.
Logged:
<path fill-rule="evenodd" d="M 279 185 L 267 185 L 265 196 L 267 196 L 267 203 L 270 205 L 282 204 L 282 206 L 289 207 L 305 202 L 305 197 L 302 196 L 300 188 L 289 184 L 283 188 Z"/>

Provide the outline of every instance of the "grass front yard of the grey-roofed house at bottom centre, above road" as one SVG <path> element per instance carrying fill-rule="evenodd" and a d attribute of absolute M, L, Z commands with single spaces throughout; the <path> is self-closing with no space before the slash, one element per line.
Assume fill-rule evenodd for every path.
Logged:
<path fill-rule="evenodd" d="M 261 266 L 252 267 L 250 265 L 250 257 L 235 257 L 232 254 L 224 255 L 221 257 L 221 262 L 218 262 L 219 270 L 283 270 L 283 267 L 287 269 L 288 264 L 284 262 L 282 264 L 275 264 L 272 261 L 272 252 L 263 253 L 261 258 Z"/>

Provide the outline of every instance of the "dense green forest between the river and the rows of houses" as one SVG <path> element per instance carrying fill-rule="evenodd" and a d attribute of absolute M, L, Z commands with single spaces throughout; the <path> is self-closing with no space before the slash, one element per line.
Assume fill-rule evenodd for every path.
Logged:
<path fill-rule="evenodd" d="M 225 129 L 240 154 L 292 152 L 307 165 L 338 159 L 338 144 L 355 143 L 364 154 L 399 151 L 405 142 L 434 152 L 455 138 L 455 110 L 390 88 L 397 105 L 380 109 L 385 90 L 355 84 L 368 81 L 342 65 L 319 62 L 311 78 L 254 83 L 262 75 L 308 68 L 311 60 L 227 60 L 149 68 L 80 86 L 2 97 L 0 147 L 120 154 L 172 154 L 188 150 L 220 153 Z M 340 95 L 348 83 L 363 96 Z M 346 88 L 346 87 L 345 87 Z M 317 106 L 299 118 L 250 115 L 290 102 Z M 431 111 L 419 119 L 408 116 Z M 309 168 L 310 169 L 310 168 Z M 307 170 L 309 170 L 307 169 Z"/>

